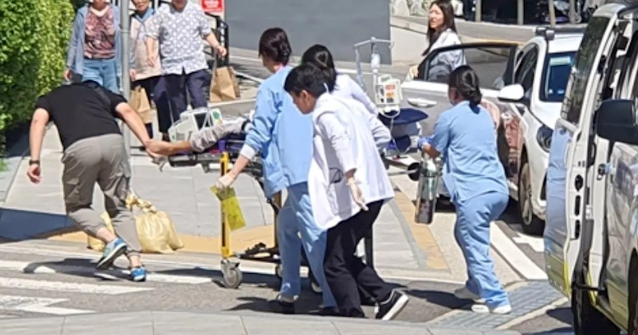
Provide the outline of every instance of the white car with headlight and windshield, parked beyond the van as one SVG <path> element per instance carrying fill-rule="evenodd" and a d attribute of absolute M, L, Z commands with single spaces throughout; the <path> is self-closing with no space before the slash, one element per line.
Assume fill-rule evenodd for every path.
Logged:
<path fill-rule="evenodd" d="M 545 227 L 549 147 L 581 40 L 582 29 L 537 28 L 516 56 L 514 84 L 498 94 L 499 153 L 528 234 L 541 235 Z"/>

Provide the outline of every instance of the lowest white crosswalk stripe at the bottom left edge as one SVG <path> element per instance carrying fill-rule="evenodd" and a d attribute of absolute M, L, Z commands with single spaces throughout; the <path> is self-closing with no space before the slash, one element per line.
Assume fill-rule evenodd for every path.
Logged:
<path fill-rule="evenodd" d="M 77 315 L 95 313 L 88 309 L 48 307 L 50 304 L 69 301 L 69 299 L 23 297 L 20 295 L 0 295 L 0 309 L 13 311 L 27 311 L 53 315 Z"/>

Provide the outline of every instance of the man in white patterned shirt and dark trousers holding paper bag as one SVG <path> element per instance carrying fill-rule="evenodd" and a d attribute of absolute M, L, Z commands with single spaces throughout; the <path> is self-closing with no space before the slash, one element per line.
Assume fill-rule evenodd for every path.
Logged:
<path fill-rule="evenodd" d="M 150 37 L 146 40 L 150 66 L 155 61 L 154 43 L 159 41 L 162 74 L 172 110 L 177 113 L 186 110 L 186 89 L 193 108 L 206 107 L 204 87 L 209 73 L 202 39 L 221 56 L 226 55 L 226 48 L 212 33 L 202 7 L 188 0 L 163 4 L 152 18 L 147 36 Z"/>

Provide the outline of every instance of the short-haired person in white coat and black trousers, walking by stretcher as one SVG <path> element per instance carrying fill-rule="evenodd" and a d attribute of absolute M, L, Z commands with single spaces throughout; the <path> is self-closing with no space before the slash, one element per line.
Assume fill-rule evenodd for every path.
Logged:
<path fill-rule="evenodd" d="M 408 297 L 385 283 L 373 267 L 355 257 L 371 232 L 383 202 L 394 190 L 376 149 L 364 108 L 329 93 L 322 70 L 304 63 L 286 77 L 284 89 L 302 114 L 313 117 L 313 160 L 308 190 L 315 223 L 327 230 L 325 278 L 339 313 L 365 317 L 359 287 L 378 302 L 376 318 L 390 320 Z"/>

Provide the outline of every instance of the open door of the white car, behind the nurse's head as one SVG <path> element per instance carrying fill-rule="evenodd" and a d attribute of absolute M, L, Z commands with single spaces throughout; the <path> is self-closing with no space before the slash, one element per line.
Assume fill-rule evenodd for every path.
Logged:
<path fill-rule="evenodd" d="M 419 77 L 401 84 L 402 107 L 409 107 L 407 101 L 410 98 L 435 101 L 436 106 L 426 111 L 429 117 L 424 129 L 425 135 L 432 133 L 438 115 L 451 107 L 447 84 L 454 66 L 446 65 L 441 59 L 459 55 L 464 56 L 464 64 L 477 72 L 484 98 L 496 103 L 498 90 L 512 83 L 517 47 L 517 43 L 481 42 L 451 45 L 431 51 L 419 66 Z"/>

